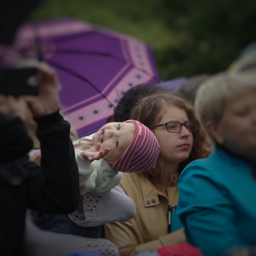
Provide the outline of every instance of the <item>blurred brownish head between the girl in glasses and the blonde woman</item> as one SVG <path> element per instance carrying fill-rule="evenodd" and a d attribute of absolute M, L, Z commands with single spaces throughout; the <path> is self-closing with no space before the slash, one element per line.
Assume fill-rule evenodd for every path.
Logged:
<path fill-rule="evenodd" d="M 198 88 L 209 78 L 210 75 L 208 74 L 192 76 L 186 80 L 185 83 L 180 85 L 180 87 L 175 91 L 175 94 L 189 100 L 190 103 L 194 104 Z"/>

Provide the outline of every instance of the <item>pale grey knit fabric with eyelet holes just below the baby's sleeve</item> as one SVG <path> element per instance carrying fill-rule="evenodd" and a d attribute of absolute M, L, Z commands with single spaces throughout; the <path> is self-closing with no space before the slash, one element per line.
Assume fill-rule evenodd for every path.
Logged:
<path fill-rule="evenodd" d="M 134 202 L 119 187 L 107 195 L 83 195 L 83 212 L 76 210 L 69 217 L 82 227 L 96 227 L 109 222 L 125 222 L 136 215 Z"/>

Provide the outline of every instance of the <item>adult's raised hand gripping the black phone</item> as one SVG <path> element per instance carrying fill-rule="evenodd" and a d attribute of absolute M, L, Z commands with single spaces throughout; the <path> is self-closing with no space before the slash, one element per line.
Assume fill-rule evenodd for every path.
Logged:
<path fill-rule="evenodd" d="M 26 96 L 26 101 L 35 118 L 49 115 L 59 109 L 59 82 L 55 70 L 44 64 L 37 67 L 39 73 L 38 95 Z"/>

